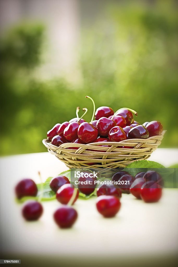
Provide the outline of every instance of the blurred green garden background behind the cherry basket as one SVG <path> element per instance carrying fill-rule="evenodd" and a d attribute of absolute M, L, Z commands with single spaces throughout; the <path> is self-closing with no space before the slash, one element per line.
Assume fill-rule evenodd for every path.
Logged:
<path fill-rule="evenodd" d="M 38 12 L 1 34 L 1 155 L 46 151 L 46 132 L 76 117 L 77 106 L 88 108 L 90 121 L 92 103 L 86 95 L 96 108 L 129 107 L 140 123 L 159 120 L 167 129 L 161 147 L 177 147 L 177 1 L 75 2 L 75 45 L 66 40 L 73 49 L 65 50 L 56 65 L 48 23 L 36 19 Z M 64 20 L 67 29 L 59 24 L 62 41 L 70 18 Z M 56 44 L 56 57 L 64 46 Z M 42 68 L 48 61 L 54 68 L 61 64 L 59 71 Z"/>

